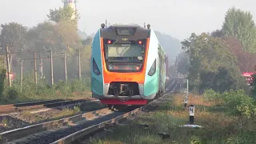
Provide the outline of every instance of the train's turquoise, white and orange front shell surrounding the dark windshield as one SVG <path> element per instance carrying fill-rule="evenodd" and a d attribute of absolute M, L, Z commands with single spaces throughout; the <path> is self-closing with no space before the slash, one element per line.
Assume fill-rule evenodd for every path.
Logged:
<path fill-rule="evenodd" d="M 153 100 L 159 91 L 162 91 L 162 74 L 160 74 L 159 66 L 161 58 L 158 58 L 159 45 L 154 31 L 151 30 L 150 38 L 146 39 L 145 62 L 142 71 L 135 73 L 117 73 L 110 72 L 106 69 L 104 61 L 103 38 L 101 38 L 100 30 L 94 37 L 92 43 L 91 58 L 91 90 L 94 98 L 98 98 L 102 103 L 108 105 L 145 105 L 148 100 Z M 138 93 L 128 101 L 120 101 L 118 98 L 127 98 L 126 96 L 118 96 L 111 94 L 110 87 L 114 83 L 134 83 L 138 86 Z M 161 90 L 159 90 L 161 87 Z"/>

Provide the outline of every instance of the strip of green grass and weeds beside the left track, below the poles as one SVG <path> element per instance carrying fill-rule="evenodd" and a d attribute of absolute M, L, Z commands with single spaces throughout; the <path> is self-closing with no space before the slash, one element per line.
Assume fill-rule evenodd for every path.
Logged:
<path fill-rule="evenodd" d="M 90 97 L 90 78 L 74 79 L 69 82 L 56 82 L 51 88 L 45 81 L 38 78 L 38 86 L 34 84 L 34 78 L 27 75 L 23 78 L 22 92 L 20 82 L 16 80 L 9 88 L 7 80 L 4 82 L 0 104 L 34 102 L 58 98 Z"/>

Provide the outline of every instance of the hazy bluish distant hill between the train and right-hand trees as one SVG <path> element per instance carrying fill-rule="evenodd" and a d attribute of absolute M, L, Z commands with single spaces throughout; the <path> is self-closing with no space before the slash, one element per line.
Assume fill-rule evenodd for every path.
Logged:
<path fill-rule="evenodd" d="M 181 42 L 178 40 L 178 38 L 174 38 L 167 34 L 162 34 L 159 31 L 154 31 L 154 33 L 157 35 L 158 41 L 165 50 L 166 54 L 168 54 L 170 64 L 173 63 L 180 50 L 182 50 Z"/>

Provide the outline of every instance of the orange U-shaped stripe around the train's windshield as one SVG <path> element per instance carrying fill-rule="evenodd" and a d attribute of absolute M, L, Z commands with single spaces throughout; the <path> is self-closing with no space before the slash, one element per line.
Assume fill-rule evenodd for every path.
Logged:
<path fill-rule="evenodd" d="M 102 68 L 103 68 L 104 83 L 110 83 L 110 82 L 138 82 L 139 84 L 144 83 L 145 73 L 146 73 L 147 54 L 149 50 L 149 42 L 150 42 L 150 38 L 147 38 L 145 61 L 144 61 L 141 72 L 117 73 L 117 72 L 110 72 L 106 69 L 106 62 L 105 62 L 104 48 L 103 48 L 103 38 L 101 38 Z"/>

